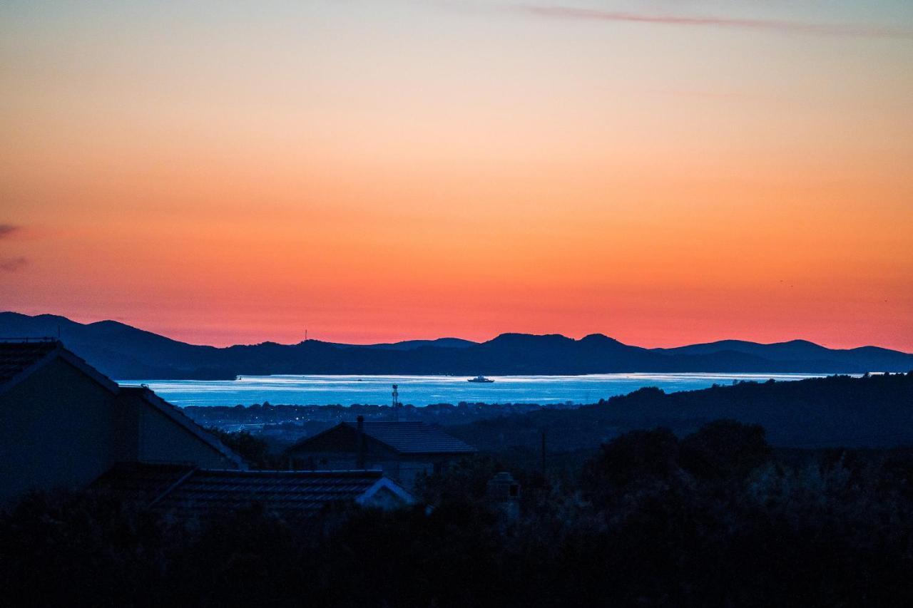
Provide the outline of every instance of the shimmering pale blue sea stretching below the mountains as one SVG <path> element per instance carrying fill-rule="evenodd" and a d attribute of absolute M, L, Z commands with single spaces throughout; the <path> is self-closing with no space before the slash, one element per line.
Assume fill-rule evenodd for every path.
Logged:
<path fill-rule="evenodd" d="M 593 404 L 601 398 L 657 386 L 666 393 L 692 391 L 740 380 L 802 380 L 812 374 L 770 373 L 601 373 L 583 376 L 490 376 L 494 383 L 467 383 L 465 376 L 244 376 L 234 381 L 130 380 L 148 384 L 177 405 L 389 404 L 392 385 L 400 401 L 427 404 Z"/>

